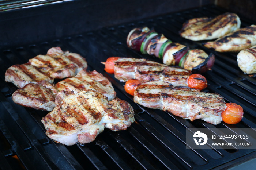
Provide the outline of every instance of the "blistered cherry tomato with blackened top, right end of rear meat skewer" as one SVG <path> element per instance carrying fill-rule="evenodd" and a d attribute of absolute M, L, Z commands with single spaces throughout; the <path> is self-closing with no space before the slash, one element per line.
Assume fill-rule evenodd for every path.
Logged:
<path fill-rule="evenodd" d="M 191 74 L 188 78 L 188 86 L 194 89 L 203 90 L 207 87 L 207 81 L 201 74 Z"/>

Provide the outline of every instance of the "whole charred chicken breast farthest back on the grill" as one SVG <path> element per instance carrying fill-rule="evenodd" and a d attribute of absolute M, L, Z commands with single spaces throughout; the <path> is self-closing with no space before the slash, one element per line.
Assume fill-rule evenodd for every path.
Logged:
<path fill-rule="evenodd" d="M 186 21 L 180 30 L 180 36 L 193 41 L 217 39 L 229 34 L 241 26 L 235 13 L 224 13 L 215 18 L 193 18 Z"/>

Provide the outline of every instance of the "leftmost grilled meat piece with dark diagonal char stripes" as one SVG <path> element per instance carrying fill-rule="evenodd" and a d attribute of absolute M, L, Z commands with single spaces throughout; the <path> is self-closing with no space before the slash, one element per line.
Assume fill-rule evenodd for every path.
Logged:
<path fill-rule="evenodd" d="M 53 83 L 54 79 L 39 72 L 34 66 L 26 63 L 13 65 L 5 72 L 5 81 L 11 82 L 18 88 L 23 88 L 29 83 L 48 81 Z"/>

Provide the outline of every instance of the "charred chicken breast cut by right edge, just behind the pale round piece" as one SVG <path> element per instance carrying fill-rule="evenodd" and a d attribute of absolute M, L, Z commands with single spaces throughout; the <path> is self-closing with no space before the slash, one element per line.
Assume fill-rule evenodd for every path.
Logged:
<path fill-rule="evenodd" d="M 256 25 L 240 28 L 215 41 L 203 43 L 219 52 L 239 52 L 256 45 Z"/>

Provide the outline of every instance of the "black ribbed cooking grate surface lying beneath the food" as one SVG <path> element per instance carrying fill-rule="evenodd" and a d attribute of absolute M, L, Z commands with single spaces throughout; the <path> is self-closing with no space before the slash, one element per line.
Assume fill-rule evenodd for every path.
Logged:
<path fill-rule="evenodd" d="M 0 3 L 3 2 L 5 1 L 0 1 Z M 185 128 L 255 128 L 256 113 L 255 104 L 253 104 L 253 101 L 255 101 L 253 97 L 255 95 L 255 89 L 253 88 L 256 84 L 255 77 L 241 74 L 234 59 L 236 57 L 234 54 L 216 53 L 204 48 L 200 42 L 184 40 L 177 33 L 186 19 L 195 16 L 200 17 L 203 14 L 214 16 L 222 12 L 222 10 L 210 6 L 2 50 L 0 52 L 1 107 L 7 110 L 6 114 L 17 124 L 17 129 L 21 131 L 21 136 L 25 139 L 17 140 L 19 137 L 12 135 L 11 130 L 3 133 L 4 138 L 8 139 L 11 147 L 19 145 L 19 152 L 15 153 L 10 149 L 1 151 L 0 157 L 4 157 L 1 161 L 5 163 L 8 156 L 17 154 L 23 164 L 28 167 L 32 158 L 27 153 L 31 151 L 39 155 L 40 159 L 42 159 L 42 164 L 49 169 L 61 169 L 61 167 L 86 169 L 88 166 L 84 165 L 84 162 L 89 162 L 91 164 L 89 166 L 93 166 L 95 169 L 108 169 L 113 166 L 120 169 L 132 169 L 132 165 L 136 165 L 138 169 L 160 169 L 159 167 L 163 169 L 214 169 L 216 167 L 233 166 L 233 164 L 237 163 L 236 161 L 244 161 L 244 158 L 252 159 L 252 155 L 256 152 L 255 150 L 192 150 L 184 148 Z M 191 122 L 167 112 L 148 109 L 135 104 L 132 96 L 125 93 L 124 83 L 116 80 L 113 75 L 105 73 L 100 62 L 114 55 L 143 57 L 161 62 L 157 58 L 136 53 L 127 47 L 126 36 L 128 32 L 132 28 L 140 26 L 155 27 L 157 32 L 165 34 L 175 42 L 189 45 L 191 48 L 204 49 L 207 53 L 214 52 L 217 56 L 214 69 L 204 74 L 210 82 L 207 90 L 221 94 L 227 101 L 241 103 L 246 113 L 242 122 L 238 125 L 227 125 L 225 123 L 211 125 L 201 120 Z M 12 103 L 10 98 L 16 87 L 4 82 L 5 70 L 9 66 L 17 64 L 17 62 L 24 63 L 38 54 L 45 54 L 50 47 L 54 46 L 60 46 L 63 50 L 81 54 L 87 59 L 89 70 L 97 70 L 112 82 L 118 98 L 128 101 L 136 110 L 136 122 L 132 124 L 131 128 L 118 132 L 106 130 L 94 142 L 84 146 L 79 144 L 64 146 L 49 140 L 45 134 L 42 135 L 45 131 L 41 123 L 41 117 L 46 112 L 14 107 L 15 104 Z M 230 62 L 227 64 L 228 61 Z M 231 70 L 231 73 L 227 73 L 227 70 Z M 250 84 L 247 82 L 250 82 Z M 231 92 L 235 92 L 235 94 Z M 31 119 L 33 119 L 34 123 L 32 123 L 34 125 L 30 125 Z M 1 121 L 4 124 L 1 124 Z M 0 124 L 3 126 L 0 126 L 0 129 L 4 132 L 5 128 L 8 127 L 8 121 L 5 119 L 1 121 Z M 35 134 L 41 134 L 41 136 L 38 137 L 39 135 Z M 23 144 L 21 141 L 28 141 L 28 144 Z M 129 159 L 125 159 L 127 157 L 122 156 L 121 152 L 128 155 Z M 64 161 L 61 162 L 60 159 L 62 157 L 64 157 Z"/>

